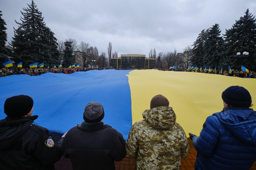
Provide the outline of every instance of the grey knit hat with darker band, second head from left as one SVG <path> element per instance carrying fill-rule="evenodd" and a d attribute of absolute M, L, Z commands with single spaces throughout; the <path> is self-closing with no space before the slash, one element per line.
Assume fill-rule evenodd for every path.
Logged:
<path fill-rule="evenodd" d="M 84 121 L 87 123 L 100 122 L 104 118 L 104 109 L 98 102 L 90 102 L 84 108 Z"/>

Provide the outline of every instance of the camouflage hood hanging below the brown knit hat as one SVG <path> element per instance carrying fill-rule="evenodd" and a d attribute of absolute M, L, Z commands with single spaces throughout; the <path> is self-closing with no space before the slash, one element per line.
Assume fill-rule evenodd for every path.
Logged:
<path fill-rule="evenodd" d="M 176 121 L 172 107 L 166 106 L 145 110 L 142 116 L 155 129 L 170 129 Z"/>

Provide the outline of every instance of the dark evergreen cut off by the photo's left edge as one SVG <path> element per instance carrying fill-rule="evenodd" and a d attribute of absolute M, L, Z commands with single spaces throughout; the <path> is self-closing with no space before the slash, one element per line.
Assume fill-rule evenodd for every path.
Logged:
<path fill-rule="evenodd" d="M 10 61 L 8 58 L 10 54 L 10 50 L 5 48 L 5 44 L 7 41 L 7 34 L 6 34 L 6 22 L 2 19 L 2 11 L 0 11 L 0 61 L 2 63 Z M 2 64 L 0 63 L 0 64 Z"/>

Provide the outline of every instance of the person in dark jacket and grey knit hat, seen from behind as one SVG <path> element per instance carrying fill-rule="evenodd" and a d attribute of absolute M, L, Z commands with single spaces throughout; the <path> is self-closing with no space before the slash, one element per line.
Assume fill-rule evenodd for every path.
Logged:
<path fill-rule="evenodd" d="M 114 161 L 125 155 L 125 139 L 111 126 L 104 124 L 104 110 L 98 102 L 84 109 L 85 122 L 69 130 L 63 140 L 62 153 L 70 158 L 73 170 L 115 170 Z"/>

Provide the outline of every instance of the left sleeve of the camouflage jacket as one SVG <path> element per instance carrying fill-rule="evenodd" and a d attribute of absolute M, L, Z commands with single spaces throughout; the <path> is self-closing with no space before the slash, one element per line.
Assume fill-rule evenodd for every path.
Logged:
<path fill-rule="evenodd" d="M 138 132 L 136 132 L 135 124 L 133 124 L 126 143 L 126 155 L 128 158 L 136 158 L 138 154 L 139 143 L 136 138 L 136 133 Z"/>

